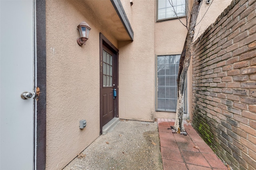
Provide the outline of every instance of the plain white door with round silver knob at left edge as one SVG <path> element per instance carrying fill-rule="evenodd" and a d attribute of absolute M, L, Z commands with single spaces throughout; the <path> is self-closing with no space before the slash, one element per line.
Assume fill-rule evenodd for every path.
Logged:
<path fill-rule="evenodd" d="M 32 0 L 0 0 L 0 169 L 30 170 L 34 162 Z M 30 95 L 28 95 L 30 97 Z"/>

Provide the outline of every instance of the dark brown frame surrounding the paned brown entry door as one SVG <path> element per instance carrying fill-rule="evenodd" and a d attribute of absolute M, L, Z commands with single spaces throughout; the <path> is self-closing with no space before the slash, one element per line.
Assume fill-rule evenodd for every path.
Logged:
<path fill-rule="evenodd" d="M 113 53 L 113 62 L 115 61 L 116 63 L 113 63 L 116 65 L 115 70 L 113 70 L 113 73 L 116 73 L 116 89 L 117 89 L 117 98 L 114 100 L 114 112 L 115 115 L 114 117 L 118 117 L 118 49 L 102 34 L 100 33 L 100 59 L 102 58 L 102 49 L 103 49 L 103 44 L 108 47 Z M 116 60 L 114 60 L 114 57 L 116 57 Z M 101 66 L 101 60 L 99 61 L 99 64 Z M 100 70 L 100 134 L 102 134 L 102 127 L 103 127 L 103 98 L 102 98 L 102 74 Z"/>

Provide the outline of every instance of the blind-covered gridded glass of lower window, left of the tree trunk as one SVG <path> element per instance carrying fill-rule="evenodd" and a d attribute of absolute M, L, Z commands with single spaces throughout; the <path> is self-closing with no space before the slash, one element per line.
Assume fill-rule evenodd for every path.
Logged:
<path fill-rule="evenodd" d="M 176 111 L 180 55 L 157 56 L 157 110 Z"/>

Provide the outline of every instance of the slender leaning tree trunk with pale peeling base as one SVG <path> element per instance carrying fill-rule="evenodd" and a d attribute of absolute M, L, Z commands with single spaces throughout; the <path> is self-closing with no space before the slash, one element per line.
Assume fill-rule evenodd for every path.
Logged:
<path fill-rule="evenodd" d="M 188 66 L 190 63 L 190 57 L 191 57 L 191 50 L 192 50 L 192 44 L 194 39 L 194 32 L 195 32 L 195 26 L 196 26 L 196 19 L 200 10 L 202 4 L 202 0 L 194 0 L 194 4 L 192 7 L 191 15 L 190 15 L 190 22 L 188 26 L 188 33 L 186 36 L 186 40 L 184 43 L 184 47 L 180 56 L 180 66 L 179 66 L 179 73 L 177 78 L 177 85 L 178 85 L 178 100 L 177 100 L 177 108 L 176 108 L 176 119 L 174 124 L 174 130 L 178 131 L 178 128 L 180 131 L 184 131 L 184 125 L 183 125 L 183 107 L 184 107 L 184 83 L 186 74 L 188 72 Z"/>

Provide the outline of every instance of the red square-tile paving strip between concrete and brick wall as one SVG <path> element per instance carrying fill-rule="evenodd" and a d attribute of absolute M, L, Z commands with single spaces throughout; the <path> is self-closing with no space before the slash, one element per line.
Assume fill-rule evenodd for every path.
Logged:
<path fill-rule="evenodd" d="M 167 129 L 173 125 L 174 119 L 158 119 L 164 170 L 228 169 L 189 123 L 184 123 L 188 133 L 186 136 Z"/>

